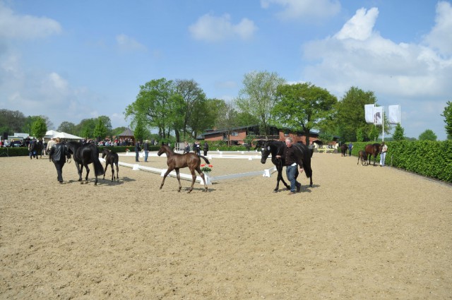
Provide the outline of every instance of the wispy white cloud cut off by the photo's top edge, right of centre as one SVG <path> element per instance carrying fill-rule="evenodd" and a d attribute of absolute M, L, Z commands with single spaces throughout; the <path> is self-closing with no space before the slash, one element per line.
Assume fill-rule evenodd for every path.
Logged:
<path fill-rule="evenodd" d="M 277 13 L 281 20 L 317 20 L 335 16 L 340 12 L 338 0 L 261 0 L 263 8 L 269 8 L 270 4 L 285 8 Z"/>

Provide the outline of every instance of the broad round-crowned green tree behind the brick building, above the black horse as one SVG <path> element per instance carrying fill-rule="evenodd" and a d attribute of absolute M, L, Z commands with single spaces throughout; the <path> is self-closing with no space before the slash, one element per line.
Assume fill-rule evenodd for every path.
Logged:
<path fill-rule="evenodd" d="M 311 83 L 280 85 L 279 101 L 272 112 L 278 125 L 302 131 L 309 144 L 309 132 L 320 128 L 327 119 L 334 115 L 335 96 L 328 90 Z"/>

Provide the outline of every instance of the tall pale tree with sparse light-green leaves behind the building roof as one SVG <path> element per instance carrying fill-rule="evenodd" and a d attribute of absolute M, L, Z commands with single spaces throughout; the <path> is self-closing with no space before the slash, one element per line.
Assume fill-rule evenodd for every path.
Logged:
<path fill-rule="evenodd" d="M 273 121 L 273 107 L 275 106 L 278 85 L 285 83 L 278 73 L 251 72 L 244 76 L 244 88 L 239 91 L 235 104 L 241 112 L 248 112 L 258 120 L 261 133 L 268 136 L 270 124 Z"/>

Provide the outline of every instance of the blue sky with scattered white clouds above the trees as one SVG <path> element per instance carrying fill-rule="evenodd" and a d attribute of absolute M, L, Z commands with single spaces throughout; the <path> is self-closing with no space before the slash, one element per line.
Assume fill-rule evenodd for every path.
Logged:
<path fill-rule="evenodd" d="M 253 71 L 338 100 L 372 91 L 386 113 L 400 104 L 405 136 L 445 140 L 452 2 L 0 0 L 0 109 L 47 116 L 49 129 L 97 116 L 129 126 L 127 105 L 160 78 L 232 101 Z"/>

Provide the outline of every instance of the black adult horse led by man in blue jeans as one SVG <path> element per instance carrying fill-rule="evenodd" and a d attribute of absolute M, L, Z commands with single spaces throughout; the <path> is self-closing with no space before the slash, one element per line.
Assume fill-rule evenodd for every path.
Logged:
<path fill-rule="evenodd" d="M 287 185 L 283 179 L 283 167 L 285 166 L 284 157 L 276 158 L 276 155 L 283 155 L 284 148 L 286 147 L 284 142 L 280 142 L 278 140 L 266 140 L 260 143 L 261 145 L 261 163 L 265 164 L 268 158 L 268 155 L 271 153 L 271 162 L 275 164 L 276 169 L 278 170 L 278 178 L 276 181 L 275 192 L 278 191 L 280 186 L 280 181 L 283 181 L 283 184 L 287 189 L 290 189 L 290 186 Z M 304 144 L 293 144 L 293 147 L 297 149 L 297 164 L 302 166 L 306 176 L 310 179 L 309 186 L 312 187 L 312 169 L 311 169 L 311 157 L 312 151 L 307 148 Z M 297 176 L 297 175 L 296 175 Z"/>

